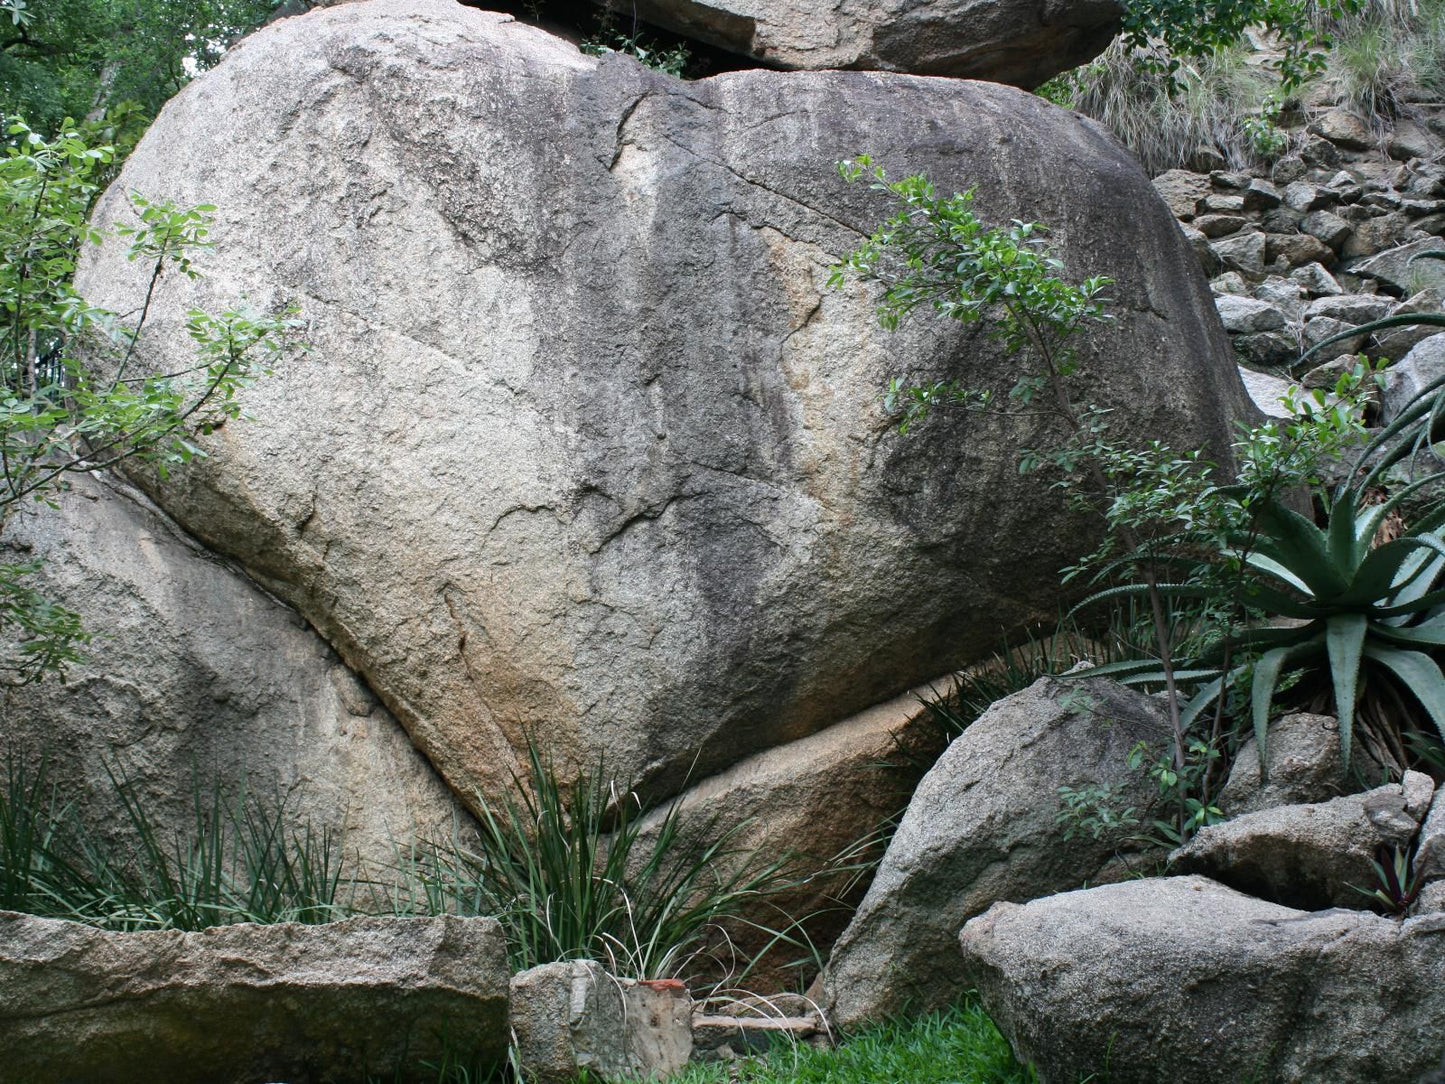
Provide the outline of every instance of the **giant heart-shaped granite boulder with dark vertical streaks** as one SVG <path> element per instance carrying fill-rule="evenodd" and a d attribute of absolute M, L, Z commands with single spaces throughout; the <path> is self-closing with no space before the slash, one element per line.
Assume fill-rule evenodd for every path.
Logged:
<path fill-rule="evenodd" d="M 561 765 L 657 791 L 792 741 L 1056 613 L 1092 543 L 1032 425 L 909 439 L 890 374 L 1012 384 L 942 319 L 881 334 L 840 254 L 890 211 L 840 155 L 977 185 L 1116 275 L 1081 396 L 1120 431 L 1227 448 L 1248 412 L 1205 283 L 1101 129 L 1006 87 L 750 71 L 685 84 L 448 0 L 282 20 L 173 100 L 101 201 L 220 205 L 185 311 L 301 302 L 309 357 L 158 502 L 292 603 L 461 795 Z M 110 243 L 79 275 L 129 311 Z"/>

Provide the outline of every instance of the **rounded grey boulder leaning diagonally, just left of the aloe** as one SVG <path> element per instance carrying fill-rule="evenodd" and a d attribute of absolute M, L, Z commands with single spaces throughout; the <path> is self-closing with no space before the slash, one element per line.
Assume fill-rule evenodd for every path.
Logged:
<path fill-rule="evenodd" d="M 1155 785 L 1126 757 L 1166 733 L 1156 700 L 1103 679 L 1043 678 L 994 704 L 919 783 L 834 947 L 822 981 L 834 1022 L 949 1003 L 968 989 L 954 950 L 968 918 L 1097 877 L 1118 841 L 1065 840 L 1059 788 L 1116 786 L 1120 808 L 1147 809 Z"/>

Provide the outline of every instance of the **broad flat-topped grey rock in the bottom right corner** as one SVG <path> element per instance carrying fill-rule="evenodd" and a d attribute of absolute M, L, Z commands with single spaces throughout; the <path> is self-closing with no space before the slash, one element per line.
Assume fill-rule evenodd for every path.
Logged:
<path fill-rule="evenodd" d="M 1415 1081 L 1445 1049 L 1445 915 L 1308 913 L 1204 877 L 998 903 L 964 971 L 1040 1084 Z"/>

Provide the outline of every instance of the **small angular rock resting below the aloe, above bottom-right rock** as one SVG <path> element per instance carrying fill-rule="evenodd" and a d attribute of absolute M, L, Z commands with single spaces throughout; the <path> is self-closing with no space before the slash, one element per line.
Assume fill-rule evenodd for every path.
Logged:
<path fill-rule="evenodd" d="M 1379 848 L 1410 846 L 1432 792 L 1429 776 L 1407 772 L 1403 785 L 1234 817 L 1201 828 L 1170 867 L 1285 906 L 1361 908 Z"/>

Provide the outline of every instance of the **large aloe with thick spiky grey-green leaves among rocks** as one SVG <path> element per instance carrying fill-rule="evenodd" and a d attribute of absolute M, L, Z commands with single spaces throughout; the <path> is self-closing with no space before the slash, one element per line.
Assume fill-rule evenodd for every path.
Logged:
<path fill-rule="evenodd" d="M 1416 259 L 1445 260 L 1445 251 L 1420 253 Z M 1387 317 L 1348 334 L 1406 324 L 1445 327 L 1445 315 Z M 1334 341 L 1325 340 L 1315 351 Z M 1280 679 L 1290 669 L 1314 668 L 1329 675 L 1347 767 L 1361 678 L 1370 671 L 1407 691 L 1445 740 L 1445 672 L 1439 665 L 1445 649 L 1445 500 L 1428 496 L 1431 487 L 1445 480 L 1445 470 L 1423 474 L 1418 470 L 1422 458 L 1445 465 L 1433 452 L 1433 442 L 1442 435 L 1445 377 L 1422 389 L 1364 445 L 1347 481 L 1334 493 L 1316 494 L 1325 506 L 1322 525 L 1292 509 L 1279 491 L 1257 500 L 1250 509 L 1248 536 L 1230 536 L 1218 558 L 1233 558 L 1248 571 L 1250 575 L 1240 581 L 1240 603 L 1264 614 L 1264 620 L 1235 632 L 1224 645 L 1175 674 L 1178 681 L 1196 689 L 1181 710 L 1185 728 L 1225 689 L 1248 682 L 1250 717 L 1263 767 L 1269 717 Z M 1406 461 L 1413 480 L 1376 503 L 1374 494 Z M 1420 497 L 1428 497 L 1423 510 L 1412 512 L 1407 529 L 1376 545 L 1387 517 Z M 1209 559 L 1198 558 L 1194 564 Z M 1142 584 L 1116 587 L 1091 595 L 1084 604 L 1144 590 Z M 1217 588 L 1188 582 L 1157 584 L 1155 590 L 1172 601 L 1217 593 Z M 1165 676 L 1152 661 L 1113 663 L 1091 674 L 1136 685 L 1160 684 Z"/>

